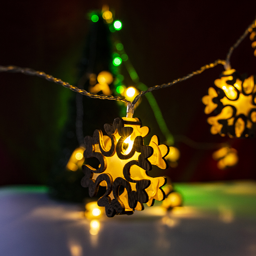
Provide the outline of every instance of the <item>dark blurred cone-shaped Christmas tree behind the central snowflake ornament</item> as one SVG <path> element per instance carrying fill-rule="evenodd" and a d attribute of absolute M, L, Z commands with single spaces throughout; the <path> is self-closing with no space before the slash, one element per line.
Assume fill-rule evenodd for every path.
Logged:
<path fill-rule="evenodd" d="M 111 94 L 111 86 L 113 86 L 113 77 L 110 73 L 116 76 L 118 72 L 113 64 L 113 45 L 109 25 L 113 18 L 106 19 L 106 15 L 104 17 L 104 12 L 102 15 L 101 11 L 90 13 L 89 16 L 90 28 L 78 67 L 79 77 L 76 86 L 87 91 L 94 90 L 93 92 L 97 94 L 108 95 Z M 103 72 L 102 76 L 102 71 L 107 72 Z M 83 150 L 78 149 L 75 152 L 74 150 L 83 147 L 83 134 L 93 135 L 94 130 L 102 126 L 102 120 L 106 116 L 109 120 L 119 116 L 116 101 L 103 101 L 81 94 L 72 95 L 69 103 L 69 117 L 63 127 L 60 142 L 62 150 L 49 177 L 50 195 L 54 198 L 81 202 L 88 196 L 87 188 L 83 188 L 80 184 L 83 177 L 81 168 Z"/>

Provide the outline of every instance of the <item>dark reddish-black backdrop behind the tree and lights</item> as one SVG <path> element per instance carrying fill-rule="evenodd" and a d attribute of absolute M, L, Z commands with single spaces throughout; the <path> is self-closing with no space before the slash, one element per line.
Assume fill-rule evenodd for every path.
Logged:
<path fill-rule="evenodd" d="M 123 22 L 118 37 L 140 82 L 148 87 L 168 83 L 218 58 L 225 59 L 229 47 L 256 14 L 255 1 L 9 1 L 2 3 L 0 10 L 0 65 L 42 70 L 74 84 L 90 23 L 86 14 L 101 9 L 102 4 L 109 4 Z M 255 74 L 253 51 L 246 37 L 231 57 L 232 68 Z M 211 135 L 206 122 L 201 98 L 223 70 L 218 65 L 153 92 L 169 130 L 177 138 L 175 146 L 181 151 L 179 166 L 165 172 L 173 181 L 256 179 L 255 139 Z M 38 77 L 0 74 L 1 185 L 47 183 L 61 150 L 60 134 L 72 94 Z M 103 101 L 99 104 L 104 107 Z M 111 104 L 116 108 L 116 102 Z M 134 117 L 151 127 L 151 136 L 158 134 L 165 141 L 145 97 Z M 97 128 L 112 122 L 105 116 Z M 212 159 L 214 150 L 195 148 L 198 144 L 188 146 L 179 139 L 184 136 L 206 146 L 229 142 L 238 151 L 238 165 L 218 170 Z"/>

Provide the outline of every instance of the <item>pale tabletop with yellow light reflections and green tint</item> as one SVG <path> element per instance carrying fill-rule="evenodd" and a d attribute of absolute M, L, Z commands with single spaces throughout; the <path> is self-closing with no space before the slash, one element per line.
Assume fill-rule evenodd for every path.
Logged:
<path fill-rule="evenodd" d="M 183 190 L 184 208 L 165 214 L 158 204 L 131 216 L 103 217 L 97 234 L 90 233 L 80 204 L 52 200 L 45 187 L 3 187 L 0 255 L 256 255 L 255 182 L 176 187 Z"/>

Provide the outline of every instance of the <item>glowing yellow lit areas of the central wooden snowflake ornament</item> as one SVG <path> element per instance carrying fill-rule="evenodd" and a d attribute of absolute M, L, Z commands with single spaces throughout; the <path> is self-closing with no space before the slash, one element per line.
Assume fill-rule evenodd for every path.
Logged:
<path fill-rule="evenodd" d="M 138 118 L 127 118 L 127 117 L 123 117 L 123 120 L 126 120 L 128 122 L 134 122 L 133 124 L 125 124 L 125 127 L 132 127 L 133 131 L 132 134 L 127 137 L 124 140 L 124 143 L 128 143 L 128 147 L 126 148 L 126 145 L 123 143 L 122 145 L 122 154 L 123 155 L 127 155 L 129 154 L 129 152 L 132 149 L 132 145 L 133 142 L 135 140 L 135 138 L 137 136 L 141 136 L 141 137 L 145 137 L 148 132 L 149 132 L 149 128 L 146 126 L 142 126 L 141 125 L 137 125 L 136 123 L 138 123 Z M 118 141 L 119 138 L 121 137 L 118 132 L 116 132 L 114 134 L 115 136 L 115 140 Z M 165 169 L 166 168 L 166 163 L 165 161 L 162 159 L 168 152 L 167 150 L 167 146 L 165 145 L 158 145 L 158 139 L 157 136 L 153 136 L 150 142 L 150 146 L 153 147 L 154 149 L 154 153 L 153 155 L 155 156 L 151 156 L 148 158 L 148 161 L 150 161 L 152 163 L 152 165 L 157 165 L 158 167 Z M 105 151 L 110 150 L 111 147 L 111 139 L 108 136 L 103 136 L 103 141 L 101 142 L 101 147 L 104 148 Z M 100 152 L 100 148 L 99 148 L 99 144 L 95 144 L 95 152 Z M 138 157 L 141 153 L 139 152 L 135 152 L 134 155 L 129 158 L 129 159 L 120 159 L 117 156 L 117 153 L 115 152 L 115 154 L 111 157 L 105 157 L 105 161 L 107 162 L 106 166 L 106 170 L 104 171 L 104 173 L 108 173 L 112 176 L 113 181 L 117 178 L 117 177 L 122 177 L 123 179 L 125 179 L 124 177 L 124 173 L 123 173 L 123 168 L 126 165 L 126 163 L 132 161 L 132 160 L 138 160 Z M 100 174 L 97 173 L 93 173 L 93 177 L 91 177 L 92 180 L 95 180 L 97 178 L 97 176 Z M 147 175 L 147 173 L 145 172 L 144 169 L 142 169 L 141 167 L 137 166 L 137 165 L 132 165 L 130 168 L 130 176 L 132 179 L 134 180 L 141 180 L 141 179 L 146 179 L 146 180 L 150 180 L 150 186 L 148 186 L 145 189 L 145 192 L 148 195 L 148 202 L 147 205 L 151 206 L 153 203 L 153 200 L 163 200 L 163 192 L 160 189 L 160 187 L 165 184 L 165 178 L 164 177 L 150 177 Z M 131 189 L 136 191 L 136 183 L 135 182 L 130 182 L 131 185 Z M 114 199 L 114 195 L 113 195 L 113 191 L 110 193 L 110 198 Z M 128 193 L 127 190 L 124 189 L 124 192 L 119 195 L 119 199 L 123 202 L 125 210 L 126 211 L 133 211 L 133 209 L 131 209 L 129 207 L 129 202 L 128 202 Z M 135 208 L 136 210 L 142 210 L 142 205 L 141 203 L 137 203 L 137 206 Z"/>

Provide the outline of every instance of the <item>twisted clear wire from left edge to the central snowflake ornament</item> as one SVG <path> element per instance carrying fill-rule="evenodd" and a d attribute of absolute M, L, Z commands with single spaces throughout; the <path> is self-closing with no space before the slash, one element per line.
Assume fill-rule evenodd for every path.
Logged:
<path fill-rule="evenodd" d="M 22 73 L 25 75 L 35 75 L 38 77 L 41 77 L 43 79 L 46 79 L 47 81 L 50 82 L 54 82 L 56 84 L 60 84 L 66 88 L 69 88 L 72 91 L 75 91 L 76 93 L 80 93 L 82 95 L 85 96 L 89 96 L 91 98 L 96 98 L 96 99 L 108 99 L 108 100 L 119 100 L 119 101 L 123 101 L 125 103 L 130 103 L 129 100 L 125 99 L 125 98 L 121 98 L 118 96 L 106 96 L 106 95 L 98 95 L 95 93 L 88 93 L 88 91 L 84 90 L 84 89 L 79 89 L 76 86 L 70 85 L 67 82 L 63 82 L 61 79 L 55 78 L 52 75 L 47 75 L 45 74 L 43 71 L 35 71 L 31 68 L 20 68 L 20 67 L 16 67 L 16 66 L 0 66 L 0 72 L 11 72 L 11 73 Z"/>

